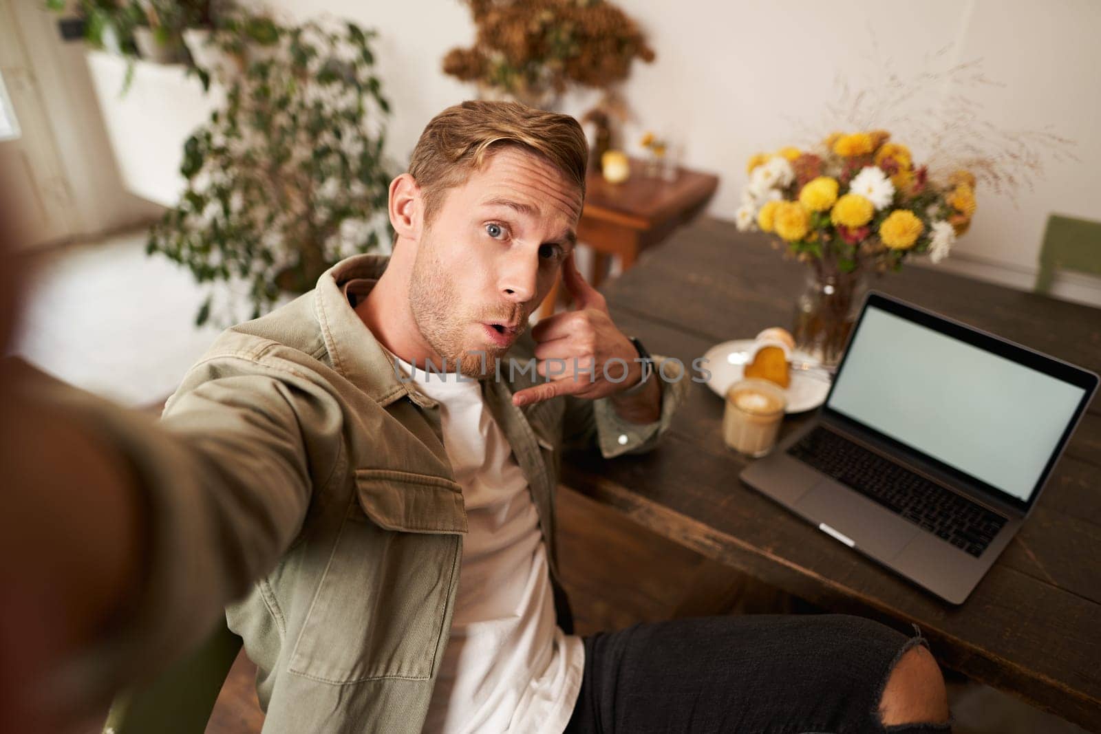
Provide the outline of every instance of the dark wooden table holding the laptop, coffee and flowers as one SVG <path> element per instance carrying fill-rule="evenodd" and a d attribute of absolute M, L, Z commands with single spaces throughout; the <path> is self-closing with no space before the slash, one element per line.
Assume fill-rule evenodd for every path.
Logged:
<path fill-rule="evenodd" d="M 709 347 L 789 326 L 803 266 L 760 234 L 702 220 L 602 289 L 617 325 L 690 368 Z M 1101 372 L 1101 310 L 909 266 L 873 287 Z M 947 369 L 947 365 L 946 365 Z M 693 384 L 666 440 L 640 457 L 571 453 L 563 483 L 705 556 L 831 611 L 920 625 L 942 665 L 1101 730 L 1101 401 L 1024 527 L 952 606 L 741 484 L 722 401 Z M 807 416 L 785 421 L 784 431 Z"/>

